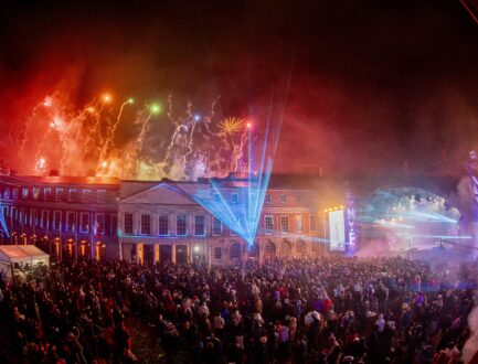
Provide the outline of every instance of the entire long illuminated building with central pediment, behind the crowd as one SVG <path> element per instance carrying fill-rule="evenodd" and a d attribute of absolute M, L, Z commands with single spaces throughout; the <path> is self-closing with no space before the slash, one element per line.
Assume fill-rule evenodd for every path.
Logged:
<path fill-rule="evenodd" d="M 318 192 L 300 179 L 273 176 L 253 244 L 209 208 L 222 200 L 240 211 L 244 180 L 119 181 L 107 178 L 0 176 L 0 204 L 10 233 L 2 244 L 36 244 L 62 259 L 138 263 L 171 260 L 236 265 L 248 259 L 325 254 L 329 224 Z M 337 207 L 336 207 L 337 208 Z M 221 217 L 221 216 L 220 216 Z M 230 228 L 232 227 L 232 228 Z"/>

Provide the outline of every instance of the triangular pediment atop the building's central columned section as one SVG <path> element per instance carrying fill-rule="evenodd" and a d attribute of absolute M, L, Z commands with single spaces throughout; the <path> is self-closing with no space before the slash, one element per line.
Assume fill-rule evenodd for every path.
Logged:
<path fill-rule="evenodd" d="M 159 183 L 152 188 L 135 193 L 121 200 L 126 204 L 163 204 L 192 205 L 196 204 L 184 191 L 169 183 Z"/>

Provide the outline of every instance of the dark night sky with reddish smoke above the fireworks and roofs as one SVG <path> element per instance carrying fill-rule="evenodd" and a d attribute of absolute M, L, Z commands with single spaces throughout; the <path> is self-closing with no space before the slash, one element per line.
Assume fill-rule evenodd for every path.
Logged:
<path fill-rule="evenodd" d="M 478 25 L 458 0 L 1 1 L 1 132 L 55 89 L 258 124 L 273 92 L 276 171 L 421 172 L 478 147 Z"/>

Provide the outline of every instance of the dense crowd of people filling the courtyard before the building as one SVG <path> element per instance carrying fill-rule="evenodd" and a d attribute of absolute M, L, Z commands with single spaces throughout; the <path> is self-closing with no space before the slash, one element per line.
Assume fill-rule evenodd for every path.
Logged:
<path fill-rule="evenodd" d="M 0 360 L 141 362 L 135 319 L 167 363 L 459 363 L 477 283 L 476 264 L 399 257 L 57 261 L 44 278 L 1 282 Z"/>

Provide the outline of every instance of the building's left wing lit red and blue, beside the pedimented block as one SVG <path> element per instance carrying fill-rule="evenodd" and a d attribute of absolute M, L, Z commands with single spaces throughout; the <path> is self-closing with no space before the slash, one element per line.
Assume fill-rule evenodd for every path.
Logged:
<path fill-rule="evenodd" d="M 115 257 L 118 196 L 117 179 L 0 175 L 1 244 L 35 244 L 62 259 Z"/>

